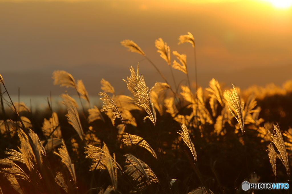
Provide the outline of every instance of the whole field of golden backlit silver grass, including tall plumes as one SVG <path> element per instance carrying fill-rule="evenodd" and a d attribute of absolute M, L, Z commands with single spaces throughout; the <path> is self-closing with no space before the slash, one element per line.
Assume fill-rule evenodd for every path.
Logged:
<path fill-rule="evenodd" d="M 164 82 L 149 86 L 139 64 L 131 66 L 124 79 L 129 96 L 101 79 L 102 107 L 91 104 L 82 80 L 56 70 L 52 82 L 76 90 L 81 107 L 64 92 L 66 110 L 52 109 L 48 98 L 46 110 L 32 112 L 12 102 L 0 74 L 0 194 L 237 194 L 243 181 L 291 185 L 292 81 L 240 90 L 213 78 L 201 88 L 194 37 L 178 40 L 191 43 L 194 64 L 162 38 L 154 42 L 174 86 L 135 42 L 121 41 Z M 178 71 L 184 81 L 175 79 Z"/>

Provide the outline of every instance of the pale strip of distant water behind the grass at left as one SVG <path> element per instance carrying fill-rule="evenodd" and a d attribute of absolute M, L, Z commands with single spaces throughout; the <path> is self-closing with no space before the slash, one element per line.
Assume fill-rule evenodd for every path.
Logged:
<path fill-rule="evenodd" d="M 7 94 L 3 95 L 4 97 L 4 107 L 8 108 L 8 106 L 11 105 L 11 101 Z M 13 102 L 18 102 L 18 95 L 10 95 Z M 79 97 L 77 95 L 71 95 L 72 98 L 74 98 L 79 106 L 81 108 L 81 103 L 79 100 Z M 100 100 L 100 96 L 89 96 L 90 99 L 90 107 L 88 105 L 88 102 L 81 98 L 81 102 L 84 106 L 84 108 L 93 108 L 93 106 L 101 107 L 103 105 L 102 101 Z M 62 98 L 60 96 L 45 96 L 45 95 L 36 95 L 36 96 L 28 96 L 28 95 L 20 95 L 19 102 L 23 102 L 28 108 L 32 110 L 32 112 L 36 110 L 44 110 L 48 108 L 48 100 L 50 104 L 52 103 L 52 109 L 53 111 L 57 111 L 58 109 L 65 109 L 65 105 L 62 104 Z"/>

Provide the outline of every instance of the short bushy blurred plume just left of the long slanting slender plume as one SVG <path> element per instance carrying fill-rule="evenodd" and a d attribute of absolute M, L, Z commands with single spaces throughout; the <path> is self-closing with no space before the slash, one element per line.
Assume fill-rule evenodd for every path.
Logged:
<path fill-rule="evenodd" d="M 52 117 L 47 120 L 44 119 L 43 127 L 41 127 L 45 136 L 50 136 L 50 134 L 55 130 L 52 134 L 52 137 L 61 138 L 61 127 L 59 126 L 59 119 L 57 113 L 53 112 Z"/>

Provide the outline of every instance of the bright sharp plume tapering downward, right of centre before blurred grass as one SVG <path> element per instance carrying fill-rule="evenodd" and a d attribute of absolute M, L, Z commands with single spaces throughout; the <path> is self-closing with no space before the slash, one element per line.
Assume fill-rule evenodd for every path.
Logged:
<path fill-rule="evenodd" d="M 241 131 L 244 134 L 244 120 L 243 120 L 244 102 L 242 102 L 242 103 L 240 102 L 239 95 L 238 95 L 237 90 L 234 86 L 233 86 L 232 92 L 228 91 L 227 94 L 228 94 L 229 110 L 232 113 L 232 115 L 236 118 L 236 120 L 238 121 L 239 126 L 241 128 Z M 230 106 L 235 110 L 237 117 L 235 116 L 235 114 L 231 110 Z"/>

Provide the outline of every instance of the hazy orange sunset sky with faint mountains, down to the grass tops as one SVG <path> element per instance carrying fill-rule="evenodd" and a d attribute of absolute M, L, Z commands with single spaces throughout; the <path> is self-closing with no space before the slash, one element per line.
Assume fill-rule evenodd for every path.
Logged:
<path fill-rule="evenodd" d="M 194 80 L 193 48 L 178 45 L 178 37 L 190 32 L 200 86 L 207 87 L 212 77 L 243 88 L 281 85 L 292 79 L 292 8 L 271 2 L 0 0 L 0 74 L 14 94 L 20 87 L 24 95 L 60 95 L 65 88 L 53 86 L 51 74 L 66 70 L 95 95 L 101 78 L 123 92 L 128 68 L 140 62 L 151 88 L 162 79 L 143 56 L 119 42 L 133 40 L 171 80 L 154 44 L 162 38 L 171 52 L 187 55 Z M 185 75 L 174 73 L 184 83 Z"/>

